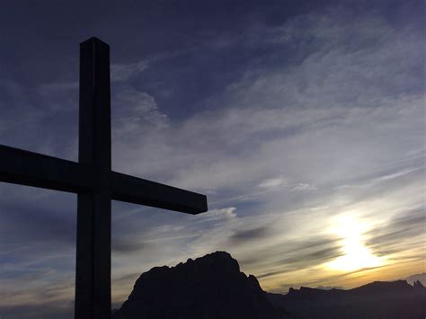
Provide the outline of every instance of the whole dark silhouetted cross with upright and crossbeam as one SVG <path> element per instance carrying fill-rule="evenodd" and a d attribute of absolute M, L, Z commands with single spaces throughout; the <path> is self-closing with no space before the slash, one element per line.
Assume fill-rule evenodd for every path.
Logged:
<path fill-rule="evenodd" d="M 111 318 L 111 199 L 188 214 L 207 198 L 111 171 L 110 47 L 80 44 L 78 163 L 0 145 L 0 182 L 77 194 L 75 319 Z"/>

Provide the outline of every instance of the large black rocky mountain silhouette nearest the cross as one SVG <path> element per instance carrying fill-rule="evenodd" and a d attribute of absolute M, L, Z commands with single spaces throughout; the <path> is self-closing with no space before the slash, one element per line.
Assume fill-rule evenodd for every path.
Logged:
<path fill-rule="evenodd" d="M 113 319 L 283 318 L 254 276 L 229 253 L 210 253 L 143 273 Z"/>

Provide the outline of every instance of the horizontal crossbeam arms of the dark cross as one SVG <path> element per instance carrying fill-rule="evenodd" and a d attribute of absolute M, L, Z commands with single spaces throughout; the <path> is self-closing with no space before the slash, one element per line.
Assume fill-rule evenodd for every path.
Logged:
<path fill-rule="evenodd" d="M 88 165 L 0 145 L 0 182 L 84 193 L 93 189 L 93 173 Z M 187 214 L 207 211 L 205 195 L 112 171 L 111 199 Z"/>

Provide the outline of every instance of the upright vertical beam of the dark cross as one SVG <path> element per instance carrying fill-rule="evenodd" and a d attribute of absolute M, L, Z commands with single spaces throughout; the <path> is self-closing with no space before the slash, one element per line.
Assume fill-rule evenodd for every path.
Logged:
<path fill-rule="evenodd" d="M 80 44 L 80 164 L 91 167 L 93 190 L 77 195 L 75 318 L 111 316 L 110 48 Z"/>

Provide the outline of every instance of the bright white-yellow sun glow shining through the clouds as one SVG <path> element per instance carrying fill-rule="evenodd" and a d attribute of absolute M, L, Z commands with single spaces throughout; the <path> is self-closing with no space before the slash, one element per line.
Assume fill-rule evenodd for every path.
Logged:
<path fill-rule="evenodd" d="M 365 244 L 363 234 L 367 230 L 368 226 L 356 217 L 338 217 L 332 232 L 342 237 L 343 255 L 328 262 L 327 267 L 333 270 L 353 271 L 383 265 L 383 258 L 374 255 Z"/>

